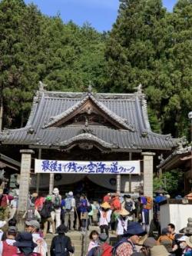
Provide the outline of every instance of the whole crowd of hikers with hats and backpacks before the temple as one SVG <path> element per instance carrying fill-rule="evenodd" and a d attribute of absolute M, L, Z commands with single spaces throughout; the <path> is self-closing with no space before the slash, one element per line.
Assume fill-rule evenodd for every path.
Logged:
<path fill-rule="evenodd" d="M 162 228 L 158 237 L 150 232 L 153 202 L 154 215 L 158 215 L 158 203 L 163 199 L 161 194 L 153 200 L 144 194 L 136 199 L 130 194 L 121 197 L 118 193 L 108 193 L 101 201 L 92 201 L 85 194 L 74 196 L 72 191 L 63 197 L 54 188 L 46 196 L 29 195 L 27 211 L 22 217 L 25 231 L 18 232 L 18 191 L 5 188 L 0 195 L 0 256 L 47 256 L 48 232 L 54 234 L 51 256 L 69 256 L 75 247 L 66 233 L 76 230 L 87 234 L 89 229 L 86 256 L 192 256 L 191 218 L 179 234 L 175 233 L 174 224 Z M 93 230 L 90 226 L 98 228 Z M 111 234 L 117 236 L 113 246 Z"/>

